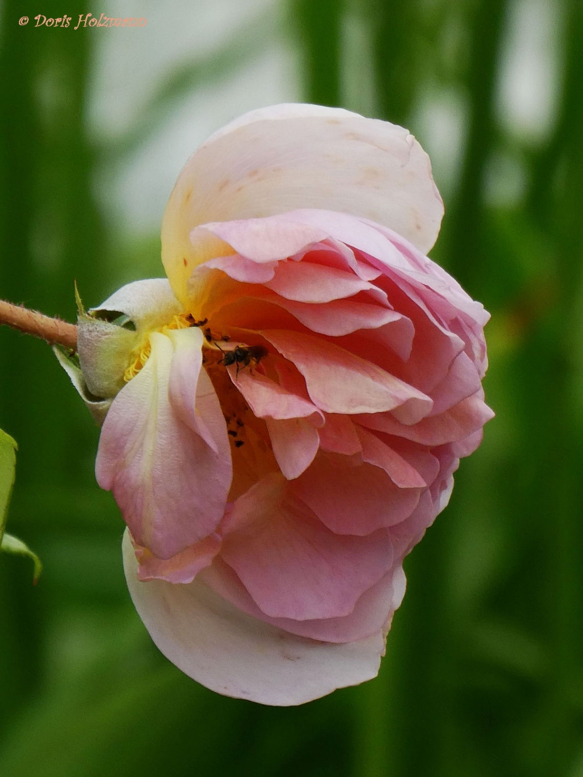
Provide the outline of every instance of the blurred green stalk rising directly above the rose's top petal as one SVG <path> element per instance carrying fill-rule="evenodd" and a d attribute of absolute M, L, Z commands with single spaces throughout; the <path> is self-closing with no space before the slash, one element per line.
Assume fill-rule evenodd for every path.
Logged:
<path fill-rule="evenodd" d="M 343 0 L 294 0 L 304 50 L 305 101 L 339 106 Z"/>

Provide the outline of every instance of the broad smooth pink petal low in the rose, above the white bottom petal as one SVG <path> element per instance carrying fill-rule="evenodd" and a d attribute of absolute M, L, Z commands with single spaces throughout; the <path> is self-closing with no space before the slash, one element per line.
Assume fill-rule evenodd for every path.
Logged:
<path fill-rule="evenodd" d="M 264 478 L 240 509 L 243 517 L 231 517 L 240 527 L 229 533 L 222 529 L 221 558 L 271 617 L 347 615 L 391 568 L 393 549 L 386 532 L 333 534 L 291 496 L 281 475 Z M 238 510 L 235 503 L 232 514 Z"/>

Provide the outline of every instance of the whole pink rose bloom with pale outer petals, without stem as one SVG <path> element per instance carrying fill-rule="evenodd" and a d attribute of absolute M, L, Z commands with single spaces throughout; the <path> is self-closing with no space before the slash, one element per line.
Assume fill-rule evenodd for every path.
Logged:
<path fill-rule="evenodd" d="M 403 557 L 493 416 L 488 314 L 424 255 L 441 217 L 403 128 L 254 111 L 180 174 L 169 283 L 82 318 L 131 597 L 208 688 L 293 705 L 377 674 Z"/>

